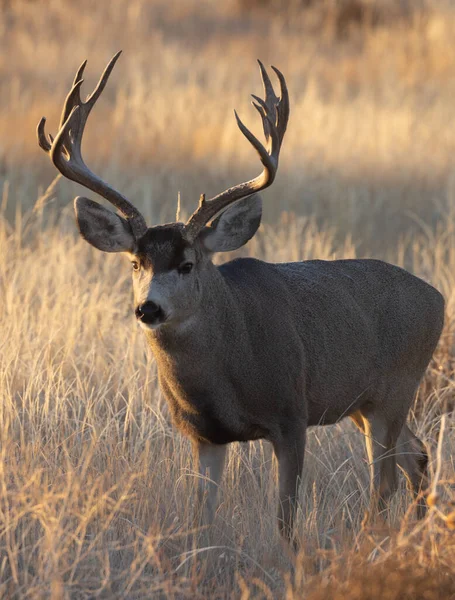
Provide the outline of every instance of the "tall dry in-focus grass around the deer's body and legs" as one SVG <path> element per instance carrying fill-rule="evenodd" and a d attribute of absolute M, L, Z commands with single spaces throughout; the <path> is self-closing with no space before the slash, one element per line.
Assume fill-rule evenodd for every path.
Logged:
<path fill-rule="evenodd" d="M 71 221 L 64 214 L 49 225 L 35 211 L 18 213 L 14 225 L 3 219 L 0 229 L 2 597 L 299 598 L 315 590 L 315 598 L 329 598 L 333 586 L 348 585 L 348 572 L 364 572 L 369 563 L 371 578 L 356 578 L 356 585 L 363 594 L 368 582 L 383 585 L 377 573 L 396 561 L 396 577 L 408 565 L 448 589 L 441 581 L 455 576 L 447 558 L 455 548 L 451 522 L 441 514 L 453 510 L 444 484 L 453 480 L 452 418 L 439 456 L 441 498 L 422 526 L 406 512 L 404 484 L 387 526 L 362 525 L 368 465 L 362 436 L 342 422 L 309 435 L 293 577 L 276 528 L 275 465 L 263 442 L 232 445 L 213 547 L 195 546 L 190 448 L 170 424 L 134 323 L 130 267 L 75 237 Z M 442 342 L 411 415 L 433 471 L 454 390 L 455 255 L 448 233 L 451 227 L 431 245 L 422 234 L 395 253 L 397 263 L 407 254 L 448 298 Z M 356 254 L 350 240 L 339 246 L 334 232 L 292 215 L 263 226 L 245 252 L 278 260 Z M 442 265 L 441 257 L 450 262 Z M 352 597 L 366 597 L 359 594 Z"/>

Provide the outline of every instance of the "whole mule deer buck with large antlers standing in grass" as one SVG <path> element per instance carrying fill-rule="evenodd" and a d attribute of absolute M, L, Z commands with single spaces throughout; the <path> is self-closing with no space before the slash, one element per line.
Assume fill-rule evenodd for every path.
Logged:
<path fill-rule="evenodd" d="M 417 495 L 427 454 L 406 417 L 441 333 L 441 294 L 379 260 L 269 264 L 241 258 L 213 264 L 215 252 L 236 250 L 256 233 L 262 212 L 257 192 L 277 173 L 288 92 L 274 69 L 281 88 L 280 97 L 275 95 L 260 62 L 265 100 L 253 96 L 253 104 L 266 147 L 235 116 L 259 154 L 261 174 L 211 200 L 202 195 L 186 223 L 147 227 L 133 204 L 93 174 L 81 154 L 87 118 L 119 55 L 85 102 L 83 63 L 55 139 L 46 136 L 43 118 L 38 140 L 65 177 L 121 213 L 75 199 L 82 237 L 131 260 L 135 314 L 173 421 L 192 440 L 206 517 L 216 508 L 228 444 L 266 439 L 278 460 L 279 527 L 290 539 L 307 428 L 347 416 L 366 436 L 374 503 L 383 506 L 396 490 L 397 463 Z M 419 516 L 424 510 L 418 507 Z"/>

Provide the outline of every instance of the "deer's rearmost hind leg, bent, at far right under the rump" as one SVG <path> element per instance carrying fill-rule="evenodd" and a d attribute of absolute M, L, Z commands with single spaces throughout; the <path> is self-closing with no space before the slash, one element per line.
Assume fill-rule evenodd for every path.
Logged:
<path fill-rule="evenodd" d="M 428 487 L 428 454 L 425 444 L 405 424 L 397 443 L 397 462 L 408 480 L 408 488 L 417 497 Z M 417 504 L 417 518 L 425 516 L 427 506 L 422 499 Z"/>

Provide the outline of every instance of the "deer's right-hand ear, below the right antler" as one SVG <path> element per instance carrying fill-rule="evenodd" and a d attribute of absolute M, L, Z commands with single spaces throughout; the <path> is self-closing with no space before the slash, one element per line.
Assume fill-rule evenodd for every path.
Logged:
<path fill-rule="evenodd" d="M 259 194 L 231 205 L 210 225 L 199 239 L 209 252 L 237 250 L 250 240 L 261 224 L 262 200 Z"/>

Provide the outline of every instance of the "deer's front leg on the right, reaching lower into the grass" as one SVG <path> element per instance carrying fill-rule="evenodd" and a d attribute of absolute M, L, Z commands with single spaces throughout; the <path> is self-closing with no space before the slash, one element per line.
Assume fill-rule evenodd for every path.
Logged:
<path fill-rule="evenodd" d="M 292 436 L 273 442 L 278 460 L 279 508 L 278 525 L 283 538 L 292 542 L 297 499 L 305 454 L 306 425 Z"/>

